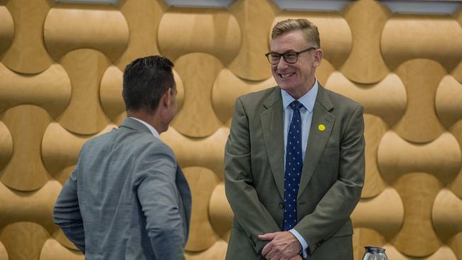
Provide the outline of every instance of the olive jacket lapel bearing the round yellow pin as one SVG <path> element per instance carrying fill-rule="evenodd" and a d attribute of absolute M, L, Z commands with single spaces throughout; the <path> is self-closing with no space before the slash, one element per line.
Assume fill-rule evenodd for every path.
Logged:
<path fill-rule="evenodd" d="M 335 122 L 335 116 L 329 112 L 331 109 L 333 109 L 331 99 L 329 99 L 326 90 L 319 85 L 316 102 L 313 108 L 310 135 L 306 143 L 305 158 L 303 159 L 303 170 L 301 171 L 300 188 L 297 198 L 300 197 L 303 190 L 308 186 L 311 177 L 313 177 L 314 170 L 331 136 Z M 325 127 L 323 131 L 319 129 L 321 125 Z"/>

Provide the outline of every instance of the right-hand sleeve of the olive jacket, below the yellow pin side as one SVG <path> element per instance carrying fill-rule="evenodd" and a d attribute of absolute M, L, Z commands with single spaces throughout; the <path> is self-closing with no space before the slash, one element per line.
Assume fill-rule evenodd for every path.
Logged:
<path fill-rule="evenodd" d="M 324 241 L 350 221 L 350 215 L 360 200 L 365 175 L 362 114 L 362 106 L 356 107 L 343 129 L 338 179 L 318 202 L 315 210 L 294 227 L 308 243 L 308 254 L 313 254 Z"/>

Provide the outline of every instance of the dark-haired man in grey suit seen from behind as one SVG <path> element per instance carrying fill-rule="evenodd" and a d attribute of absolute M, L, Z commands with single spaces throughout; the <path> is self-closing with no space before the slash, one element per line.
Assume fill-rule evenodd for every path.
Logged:
<path fill-rule="evenodd" d="M 53 219 L 85 259 L 184 259 L 191 196 L 159 139 L 176 114 L 173 64 L 139 58 L 124 71 L 127 119 L 87 141 Z"/>

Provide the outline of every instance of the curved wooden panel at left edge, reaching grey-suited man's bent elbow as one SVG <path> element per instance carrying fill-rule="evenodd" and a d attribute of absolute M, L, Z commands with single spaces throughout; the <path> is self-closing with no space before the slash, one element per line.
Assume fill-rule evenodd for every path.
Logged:
<path fill-rule="evenodd" d="M 21 193 L 0 183 L 0 227 L 15 222 L 35 222 L 41 224 L 50 234 L 58 231 L 51 215 L 53 205 L 61 190 L 61 185 L 50 180 L 33 193 Z"/>

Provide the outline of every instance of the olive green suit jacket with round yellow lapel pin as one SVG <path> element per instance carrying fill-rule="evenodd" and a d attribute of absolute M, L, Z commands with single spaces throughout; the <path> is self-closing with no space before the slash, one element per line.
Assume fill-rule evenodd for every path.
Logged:
<path fill-rule="evenodd" d="M 225 191 L 234 212 L 227 259 L 262 259 L 268 242 L 257 236 L 281 231 L 283 128 L 279 87 L 236 100 L 225 146 Z M 365 172 L 363 108 L 320 85 L 306 130 L 294 229 L 308 244 L 308 259 L 353 259 L 350 214 Z"/>

